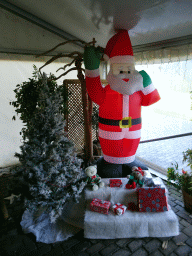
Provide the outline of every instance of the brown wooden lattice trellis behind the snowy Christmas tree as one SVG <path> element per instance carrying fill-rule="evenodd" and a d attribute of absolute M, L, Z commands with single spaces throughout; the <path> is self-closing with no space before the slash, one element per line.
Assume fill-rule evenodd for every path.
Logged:
<path fill-rule="evenodd" d="M 101 81 L 105 86 L 106 80 Z M 68 92 L 68 114 L 65 116 L 67 120 L 66 131 L 68 138 L 73 141 L 77 152 L 82 152 L 85 145 L 85 131 L 84 131 L 84 117 L 83 117 L 83 104 L 82 104 L 82 89 L 81 83 L 78 79 L 64 80 L 64 86 Z M 93 106 L 98 106 L 93 103 Z M 92 140 L 96 140 L 96 130 L 92 128 Z"/>

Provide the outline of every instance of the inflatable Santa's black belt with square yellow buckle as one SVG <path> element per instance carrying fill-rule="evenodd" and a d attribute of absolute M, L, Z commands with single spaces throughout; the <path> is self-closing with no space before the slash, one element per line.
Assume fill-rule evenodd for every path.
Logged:
<path fill-rule="evenodd" d="M 132 125 L 141 124 L 141 117 L 132 119 L 129 117 L 124 117 L 121 120 L 107 119 L 99 116 L 99 123 L 106 125 L 119 126 L 120 128 L 130 128 Z"/>

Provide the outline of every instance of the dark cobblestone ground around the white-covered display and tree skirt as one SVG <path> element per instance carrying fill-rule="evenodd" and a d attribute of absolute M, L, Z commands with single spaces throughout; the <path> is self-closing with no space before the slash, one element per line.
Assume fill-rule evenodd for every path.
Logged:
<path fill-rule="evenodd" d="M 166 182 L 165 182 L 166 183 Z M 12 220 L 1 223 L 0 256 L 192 256 L 192 214 L 184 209 L 182 195 L 175 188 L 169 189 L 169 204 L 176 213 L 180 223 L 180 234 L 171 238 L 129 238 L 129 239 L 85 239 L 83 230 L 64 242 L 44 244 L 36 242 L 32 234 L 23 234 L 20 220 L 22 205 L 16 202 L 7 204 Z M 168 240 L 167 249 L 162 248 Z"/>

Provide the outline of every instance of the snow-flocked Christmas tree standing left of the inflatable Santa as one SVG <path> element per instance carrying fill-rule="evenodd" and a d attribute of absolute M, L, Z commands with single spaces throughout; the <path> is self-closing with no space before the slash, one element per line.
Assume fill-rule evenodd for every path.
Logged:
<path fill-rule="evenodd" d="M 50 90 L 48 79 L 45 73 L 40 79 L 43 86 L 37 106 L 24 131 L 21 153 L 15 156 L 22 164 L 17 172 L 29 188 L 27 209 L 35 212 L 45 207 L 54 223 L 65 202 L 71 198 L 78 202 L 86 182 L 81 160 L 64 132 L 63 98 L 59 90 Z"/>

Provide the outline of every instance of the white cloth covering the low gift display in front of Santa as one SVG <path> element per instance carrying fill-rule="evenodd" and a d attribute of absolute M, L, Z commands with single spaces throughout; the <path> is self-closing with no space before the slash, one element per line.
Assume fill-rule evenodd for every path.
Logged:
<path fill-rule="evenodd" d="M 148 173 L 148 177 L 150 177 Z M 170 237 L 179 235 L 179 222 L 175 213 L 168 205 L 165 212 L 131 212 L 126 211 L 123 215 L 115 215 L 111 210 L 108 215 L 93 212 L 89 204 L 93 198 L 109 200 L 112 203 L 122 203 L 127 206 L 129 202 L 137 204 L 136 189 L 125 188 L 126 178 L 122 178 L 121 188 L 109 187 L 109 180 L 102 179 L 105 187 L 98 191 L 86 189 L 85 199 L 87 208 L 84 218 L 84 237 L 90 239 L 115 239 L 129 237 Z M 160 178 L 154 179 L 155 184 L 165 187 Z M 168 197 L 168 190 L 166 188 Z"/>

